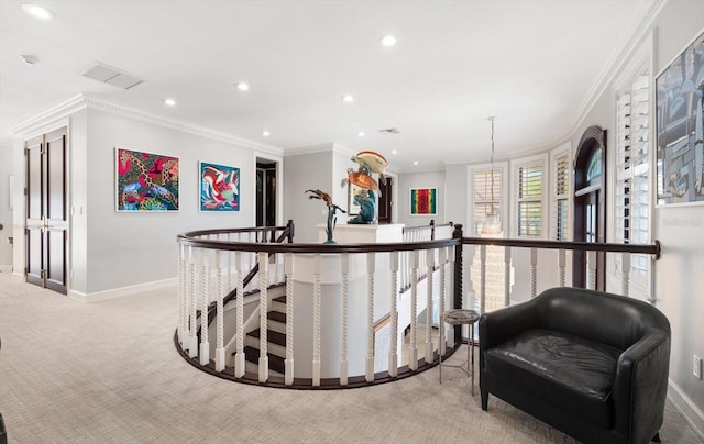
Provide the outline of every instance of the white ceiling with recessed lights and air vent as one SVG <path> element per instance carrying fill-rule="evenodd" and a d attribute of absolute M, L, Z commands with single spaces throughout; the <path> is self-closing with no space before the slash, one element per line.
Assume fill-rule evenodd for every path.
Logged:
<path fill-rule="evenodd" d="M 652 3 L 28 1 L 56 19 L 0 0 L 2 136 L 84 92 L 284 151 L 378 151 L 396 171 L 487 160 L 490 115 L 497 158 L 563 142 Z M 385 34 L 396 46 L 380 44 Z M 123 90 L 81 77 L 95 62 L 145 81 Z M 400 134 L 378 133 L 388 127 Z"/>

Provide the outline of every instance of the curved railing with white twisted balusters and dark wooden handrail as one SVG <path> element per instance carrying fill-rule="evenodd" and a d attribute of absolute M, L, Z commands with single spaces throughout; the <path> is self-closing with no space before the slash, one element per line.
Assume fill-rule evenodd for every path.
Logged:
<path fill-rule="evenodd" d="M 424 230 L 408 232 L 414 231 Z M 527 248 L 536 257 L 530 296 L 538 290 L 538 249 L 556 249 L 560 257 L 551 273 L 554 285 L 564 285 L 568 251 L 650 254 L 653 260 L 660 252 L 659 243 L 463 237 L 462 225 L 452 226 L 451 237 L 374 244 L 290 243 L 293 232 L 289 222 L 178 236 L 175 342 L 190 364 L 219 377 L 274 387 L 344 388 L 395 380 L 432 367 L 439 353 L 448 356 L 462 343 L 462 330 L 439 325 L 439 313 L 469 306 L 463 282 L 469 246 L 480 258 L 486 257 L 486 248 L 503 248 L 506 264 L 512 249 Z M 481 311 L 485 273 L 480 267 L 473 276 L 482 282 L 476 295 Z M 403 276 L 408 276 L 408 290 Z M 628 284 L 623 288 L 627 293 Z M 508 290 L 505 301 L 510 303 Z M 440 344 L 438 337 L 446 340 Z"/>

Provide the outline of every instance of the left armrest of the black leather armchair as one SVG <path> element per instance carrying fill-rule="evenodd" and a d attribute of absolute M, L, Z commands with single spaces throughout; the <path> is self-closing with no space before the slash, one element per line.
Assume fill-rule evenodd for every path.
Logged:
<path fill-rule="evenodd" d="M 538 308 L 534 301 L 484 313 L 480 318 L 480 352 L 538 325 Z"/>

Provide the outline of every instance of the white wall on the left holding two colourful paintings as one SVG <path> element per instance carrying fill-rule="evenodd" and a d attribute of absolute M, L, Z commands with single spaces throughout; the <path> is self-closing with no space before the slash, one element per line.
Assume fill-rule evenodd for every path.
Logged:
<path fill-rule="evenodd" d="M 87 127 L 87 163 L 81 162 L 82 153 L 72 152 L 70 156 L 72 197 L 76 196 L 72 207 L 77 214 L 82 211 L 87 227 L 86 252 L 73 251 L 72 266 L 74 279 L 77 284 L 85 279 L 86 288 L 72 285 L 72 290 L 90 296 L 175 278 L 179 233 L 254 226 L 252 149 L 96 109 L 88 109 Z M 117 212 L 116 147 L 179 157 L 179 211 Z M 199 160 L 240 168 L 240 211 L 198 211 Z M 82 196 L 86 199 L 81 209 Z"/>

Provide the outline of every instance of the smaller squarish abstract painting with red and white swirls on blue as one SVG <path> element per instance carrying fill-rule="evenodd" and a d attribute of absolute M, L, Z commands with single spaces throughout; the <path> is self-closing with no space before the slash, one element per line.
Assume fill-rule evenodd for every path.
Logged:
<path fill-rule="evenodd" d="M 240 168 L 200 163 L 200 211 L 240 211 Z"/>

